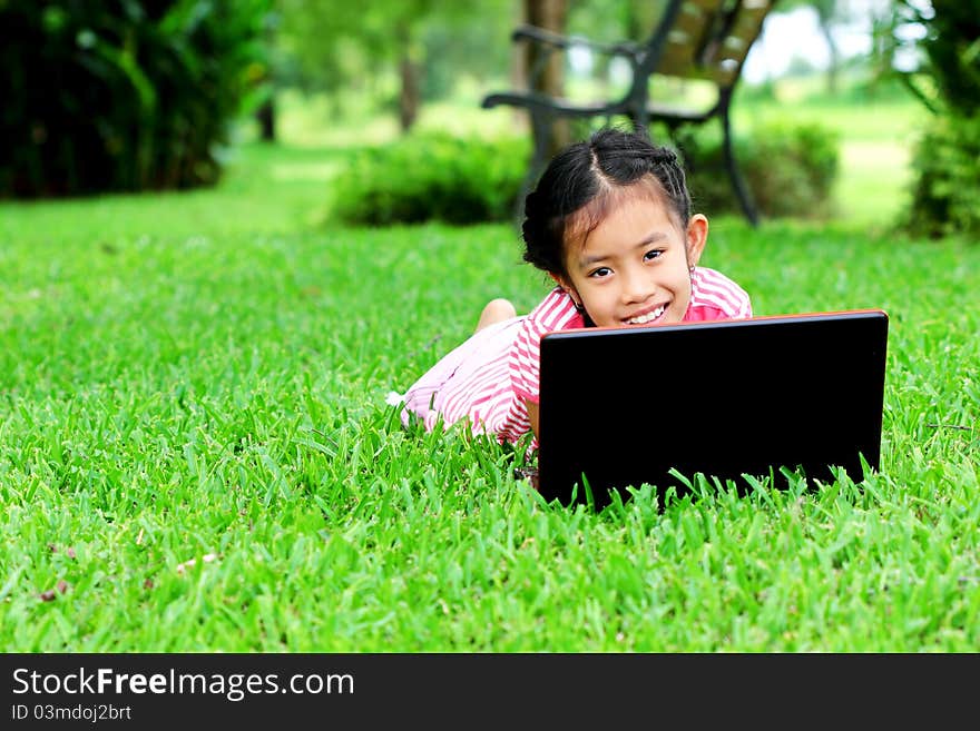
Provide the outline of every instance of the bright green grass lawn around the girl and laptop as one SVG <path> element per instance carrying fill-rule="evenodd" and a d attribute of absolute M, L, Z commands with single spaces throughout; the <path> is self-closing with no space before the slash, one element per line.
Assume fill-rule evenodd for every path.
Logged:
<path fill-rule="evenodd" d="M 882 470 L 595 514 L 401 428 L 389 389 L 547 285 L 509 226 L 317 224 L 341 164 L 246 145 L 216 190 L 0 205 L 0 648 L 980 646 L 976 243 L 713 220 L 757 314 L 889 312 Z"/>

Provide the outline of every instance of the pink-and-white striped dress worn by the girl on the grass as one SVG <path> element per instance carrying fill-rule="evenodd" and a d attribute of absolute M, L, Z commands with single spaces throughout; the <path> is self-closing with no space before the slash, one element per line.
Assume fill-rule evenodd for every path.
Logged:
<path fill-rule="evenodd" d="M 685 323 L 752 317 L 748 295 L 719 271 L 697 267 L 692 285 Z M 516 443 L 531 431 L 526 402 L 539 398 L 541 335 L 576 327 L 585 327 L 582 316 L 555 287 L 529 314 L 474 333 L 404 395 L 390 394 L 389 403 L 403 404 L 404 424 L 419 417 L 431 431 L 468 418 L 474 434 Z M 535 441 L 530 448 L 536 446 Z"/>

